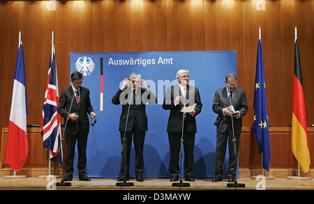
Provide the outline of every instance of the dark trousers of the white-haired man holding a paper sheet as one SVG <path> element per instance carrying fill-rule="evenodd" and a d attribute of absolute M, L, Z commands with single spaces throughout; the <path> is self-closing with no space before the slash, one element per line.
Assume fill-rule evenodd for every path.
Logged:
<path fill-rule="evenodd" d="M 171 177 L 179 177 L 180 174 L 180 146 L 181 132 L 169 132 L 168 139 L 170 145 L 170 162 L 169 173 Z M 188 178 L 193 175 L 194 164 L 194 143 L 195 132 L 184 131 L 184 177 Z"/>

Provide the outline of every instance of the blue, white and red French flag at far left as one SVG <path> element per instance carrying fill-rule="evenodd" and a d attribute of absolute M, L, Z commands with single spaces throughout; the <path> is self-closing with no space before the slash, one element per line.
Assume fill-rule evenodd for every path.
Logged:
<path fill-rule="evenodd" d="M 20 42 L 15 66 L 12 104 L 4 162 L 15 171 L 20 171 L 27 160 L 29 147 L 27 143 L 27 87 L 25 82 L 24 52 Z"/>

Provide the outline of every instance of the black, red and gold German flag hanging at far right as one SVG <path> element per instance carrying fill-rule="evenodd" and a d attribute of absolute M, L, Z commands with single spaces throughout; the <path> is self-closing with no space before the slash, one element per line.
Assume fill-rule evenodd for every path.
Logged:
<path fill-rule="evenodd" d="M 308 128 L 306 107 L 302 83 L 301 62 L 297 39 L 294 42 L 294 77 L 292 107 L 292 152 L 304 173 L 310 170 L 310 151 L 308 146 Z"/>

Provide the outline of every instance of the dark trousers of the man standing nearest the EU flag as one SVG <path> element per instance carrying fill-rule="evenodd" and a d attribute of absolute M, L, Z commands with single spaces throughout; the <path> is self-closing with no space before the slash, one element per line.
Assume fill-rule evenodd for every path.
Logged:
<path fill-rule="evenodd" d="M 216 176 L 223 176 L 223 162 L 225 161 L 225 151 L 227 149 L 227 141 L 229 148 L 229 166 L 227 175 L 235 176 L 237 171 L 237 155 L 239 152 L 240 134 L 234 134 L 236 139 L 236 154 L 234 155 L 234 143 L 232 141 L 232 125 L 230 124 L 226 132 L 217 132 L 216 141 Z M 229 138 L 229 139 L 228 139 Z"/>

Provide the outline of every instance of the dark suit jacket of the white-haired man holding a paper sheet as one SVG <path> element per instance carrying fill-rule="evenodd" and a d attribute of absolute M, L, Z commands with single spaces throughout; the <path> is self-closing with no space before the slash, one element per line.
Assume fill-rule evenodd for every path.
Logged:
<path fill-rule="evenodd" d="M 174 99 L 180 95 L 182 97 L 179 104 L 174 105 Z M 167 132 L 181 132 L 182 131 L 182 118 L 183 113 L 181 109 L 184 107 L 189 107 L 196 103 L 195 116 L 197 116 L 202 110 L 202 102 L 200 99 L 200 93 L 198 88 L 194 86 L 187 85 L 186 87 L 186 98 L 181 93 L 179 85 L 170 86 L 167 88 L 165 94 L 165 100 L 163 101 L 163 109 L 170 110 L 170 116 L 168 119 Z M 186 120 L 184 123 L 187 132 L 197 132 L 195 116 L 190 116 L 186 113 Z"/>

